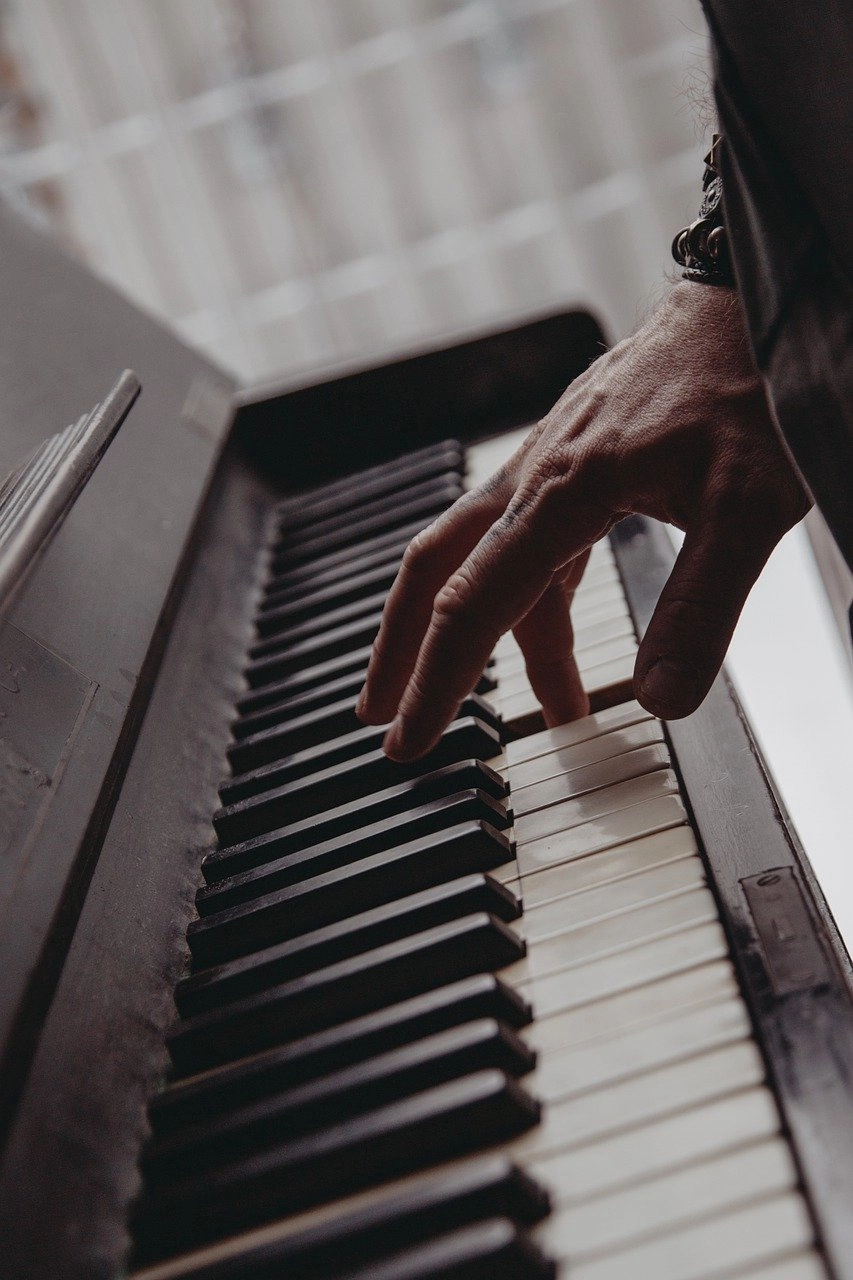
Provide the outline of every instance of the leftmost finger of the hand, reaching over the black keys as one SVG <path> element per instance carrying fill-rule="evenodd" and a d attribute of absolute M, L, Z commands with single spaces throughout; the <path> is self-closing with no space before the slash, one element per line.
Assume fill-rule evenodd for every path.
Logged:
<path fill-rule="evenodd" d="M 366 724 L 387 724 L 393 719 L 437 593 L 505 507 L 506 498 L 497 484 L 465 494 L 406 548 L 356 704 L 356 714 Z"/>

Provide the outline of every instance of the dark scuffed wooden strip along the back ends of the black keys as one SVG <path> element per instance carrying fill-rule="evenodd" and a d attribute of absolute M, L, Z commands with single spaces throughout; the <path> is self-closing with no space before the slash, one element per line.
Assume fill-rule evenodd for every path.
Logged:
<path fill-rule="evenodd" d="M 164 1068 L 213 838 L 269 499 L 227 460 L 0 1166 L 4 1275 L 120 1271 L 145 1106 Z"/>

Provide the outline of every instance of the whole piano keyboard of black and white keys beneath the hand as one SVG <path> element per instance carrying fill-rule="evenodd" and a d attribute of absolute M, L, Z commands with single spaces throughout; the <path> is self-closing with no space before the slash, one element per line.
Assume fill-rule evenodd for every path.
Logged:
<path fill-rule="evenodd" d="M 278 513 L 134 1280 L 826 1280 L 610 545 L 588 718 L 542 728 L 507 639 L 426 760 L 355 719 L 462 470 L 430 447 Z"/>

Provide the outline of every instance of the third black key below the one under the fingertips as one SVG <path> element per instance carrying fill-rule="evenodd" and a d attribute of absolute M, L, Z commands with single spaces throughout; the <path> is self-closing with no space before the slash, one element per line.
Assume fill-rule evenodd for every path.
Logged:
<path fill-rule="evenodd" d="M 190 923 L 187 942 L 196 966 L 222 964 L 460 876 L 493 870 L 511 856 L 502 832 L 484 822 L 460 823 L 204 915 Z"/>

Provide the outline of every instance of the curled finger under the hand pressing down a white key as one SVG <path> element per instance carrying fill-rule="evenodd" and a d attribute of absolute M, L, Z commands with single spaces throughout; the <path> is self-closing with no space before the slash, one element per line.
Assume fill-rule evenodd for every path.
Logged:
<path fill-rule="evenodd" d="M 530 687 L 549 728 L 589 713 L 589 698 L 574 655 L 570 614 L 575 588 L 588 559 L 588 550 L 575 557 L 562 579 L 553 579 L 530 612 L 514 627 Z"/>

